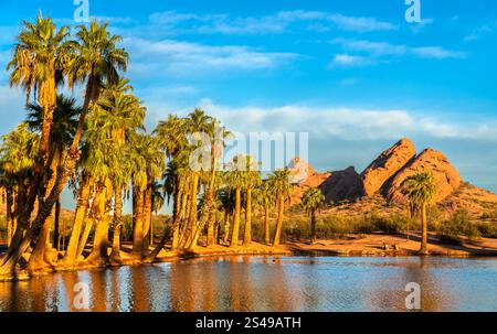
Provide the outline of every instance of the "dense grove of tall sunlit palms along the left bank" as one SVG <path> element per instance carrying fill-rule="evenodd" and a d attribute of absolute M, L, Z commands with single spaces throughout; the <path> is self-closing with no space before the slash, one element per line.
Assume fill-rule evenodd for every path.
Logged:
<path fill-rule="evenodd" d="M 109 33 L 108 23 L 92 21 L 70 32 L 40 14 L 23 25 L 8 66 L 11 85 L 25 91 L 27 119 L 4 136 L 1 147 L 9 226 L 2 280 L 54 269 L 152 262 L 166 246 L 172 251 L 194 249 L 203 234 L 207 246 L 250 246 L 257 201 L 266 212 L 277 205 L 277 227 L 271 231 L 266 219 L 264 241 L 279 245 L 290 192 L 287 171 L 276 171 L 263 183 L 250 155 L 234 157 L 231 171 L 218 171 L 219 151 L 230 132 L 200 108 L 186 118 L 169 115 L 147 132 L 147 110 L 125 77 L 129 54 L 120 46 L 121 37 Z M 63 95 L 65 84 L 83 87 L 82 106 Z M 208 171 L 192 170 L 193 134 L 213 138 L 214 131 L 221 131 L 221 141 L 211 144 L 211 165 Z M 61 248 L 65 186 L 76 194 L 76 208 Z M 123 259 L 123 201 L 129 197 L 133 248 Z M 152 214 L 166 200 L 172 201 L 172 225 L 156 245 Z"/>

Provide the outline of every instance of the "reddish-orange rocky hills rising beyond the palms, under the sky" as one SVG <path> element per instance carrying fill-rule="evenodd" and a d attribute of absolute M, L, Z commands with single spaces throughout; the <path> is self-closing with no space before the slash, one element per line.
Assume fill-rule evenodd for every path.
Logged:
<path fill-rule="evenodd" d="M 401 208 L 406 201 L 404 181 L 417 172 L 431 171 L 437 187 L 435 203 L 446 212 L 465 208 L 482 216 L 497 209 L 497 194 L 465 183 L 442 152 L 426 149 L 417 154 L 408 138 L 383 151 L 360 174 L 353 168 L 329 173 L 318 173 L 310 165 L 307 169 L 311 173 L 296 182 L 292 205 L 300 202 L 307 188 L 319 187 L 328 203 L 341 203 L 358 212 L 376 206 Z"/>

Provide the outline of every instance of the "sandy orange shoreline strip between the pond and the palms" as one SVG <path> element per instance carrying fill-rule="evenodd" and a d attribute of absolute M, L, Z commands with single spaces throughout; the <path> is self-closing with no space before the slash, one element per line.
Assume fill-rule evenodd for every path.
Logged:
<path fill-rule="evenodd" d="M 137 260 L 128 255 L 128 247 L 121 250 L 119 262 L 106 263 L 85 263 L 81 262 L 72 268 L 52 267 L 49 270 L 28 273 L 19 271 L 14 277 L 0 278 L 0 282 L 27 281 L 33 277 L 47 276 L 56 272 L 70 272 L 92 269 L 105 269 L 127 266 L 147 266 L 154 263 L 165 263 L 183 261 L 199 258 L 213 257 L 235 257 L 235 256 L 306 256 L 306 257 L 420 257 L 417 252 L 419 241 L 416 235 L 410 235 L 406 240 L 405 235 L 383 235 L 371 234 L 362 237 L 348 236 L 340 239 L 319 239 L 315 244 L 304 240 L 288 240 L 286 244 L 277 248 L 253 243 L 250 246 L 239 246 L 230 248 L 226 246 L 214 245 L 211 247 L 198 246 L 193 250 L 188 251 L 169 251 L 162 249 L 159 256 L 152 262 Z M 462 245 L 443 245 L 435 240 L 434 236 L 430 236 L 427 257 L 444 258 L 497 258 L 497 239 L 482 238 L 479 245 L 465 244 Z M 388 248 L 388 249 L 385 249 Z M 394 249 L 396 248 L 396 249 Z M 61 254 L 60 254 L 61 255 Z"/>

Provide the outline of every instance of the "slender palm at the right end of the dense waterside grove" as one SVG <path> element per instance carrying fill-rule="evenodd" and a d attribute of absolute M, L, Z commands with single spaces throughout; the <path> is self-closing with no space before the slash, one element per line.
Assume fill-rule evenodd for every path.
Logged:
<path fill-rule="evenodd" d="M 276 194 L 278 204 L 278 219 L 276 223 L 276 233 L 274 236 L 273 247 L 278 247 L 282 231 L 283 231 L 283 219 L 285 214 L 285 202 L 292 193 L 292 185 L 289 183 L 289 170 L 277 170 L 269 174 L 267 182 L 272 192 Z"/>

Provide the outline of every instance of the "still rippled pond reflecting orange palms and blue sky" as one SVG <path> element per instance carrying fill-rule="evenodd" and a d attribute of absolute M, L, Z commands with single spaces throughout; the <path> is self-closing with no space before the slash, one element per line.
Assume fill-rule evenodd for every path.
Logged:
<path fill-rule="evenodd" d="M 497 259 L 219 257 L 0 283 L 0 311 L 497 311 Z"/>

